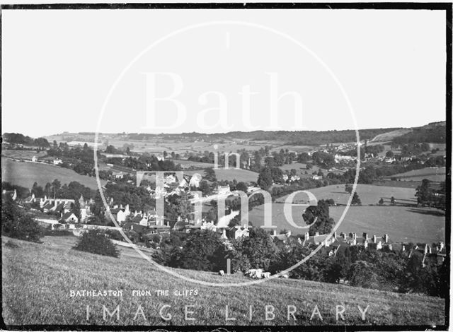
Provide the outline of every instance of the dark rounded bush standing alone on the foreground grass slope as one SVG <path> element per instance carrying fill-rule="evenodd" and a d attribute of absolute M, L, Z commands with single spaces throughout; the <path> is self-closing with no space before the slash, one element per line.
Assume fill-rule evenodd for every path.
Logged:
<path fill-rule="evenodd" d="M 72 248 L 80 251 L 91 252 L 103 256 L 119 257 L 120 251 L 105 233 L 98 230 L 88 230 Z"/>

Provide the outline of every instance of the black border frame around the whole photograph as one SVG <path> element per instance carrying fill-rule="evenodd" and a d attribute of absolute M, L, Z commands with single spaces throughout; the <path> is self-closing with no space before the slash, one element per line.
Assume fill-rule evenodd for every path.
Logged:
<path fill-rule="evenodd" d="M 4 10 L 96 10 L 96 9 L 357 9 L 357 10 L 430 10 L 445 11 L 446 18 L 446 62 L 445 62 L 445 112 L 447 121 L 447 211 L 445 214 L 445 243 L 451 244 L 451 192 L 452 192 L 452 11 L 453 3 L 411 3 L 411 2 L 369 2 L 369 3 L 143 3 L 143 4 L 2 4 L 0 5 L 0 89 L 1 80 L 1 32 L 2 11 Z M 0 93 L 0 113 L 1 113 Z M 2 131 L 3 132 L 3 131 Z M 450 253 L 448 253 L 450 254 Z M 0 258 L 1 259 L 1 258 Z M 3 266 L 3 265 L 2 265 Z M 451 275 L 451 269 L 449 269 Z M 450 285 L 448 281 L 448 289 Z M 1 293 L 1 289 L 0 289 Z M 1 310 L 3 312 L 3 297 Z M 350 325 L 321 325 L 321 326 L 229 326 L 231 331 L 447 331 L 449 328 L 450 299 L 445 298 L 445 325 L 442 326 L 350 326 Z M 229 331 L 224 326 L 115 326 L 115 325 L 6 325 L 1 316 L 0 328 L 6 330 L 33 331 Z M 166 328 L 169 328 L 167 330 Z"/>

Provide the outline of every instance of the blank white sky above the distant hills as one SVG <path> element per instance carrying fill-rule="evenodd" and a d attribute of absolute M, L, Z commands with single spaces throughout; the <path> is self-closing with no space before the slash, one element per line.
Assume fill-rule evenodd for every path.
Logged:
<path fill-rule="evenodd" d="M 2 132 L 445 120 L 445 12 L 2 11 Z"/>

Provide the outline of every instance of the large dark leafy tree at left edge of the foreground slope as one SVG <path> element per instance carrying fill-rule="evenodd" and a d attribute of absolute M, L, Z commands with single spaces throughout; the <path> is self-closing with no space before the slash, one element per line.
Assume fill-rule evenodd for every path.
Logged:
<path fill-rule="evenodd" d="M 1 234 L 30 242 L 40 242 L 43 236 L 40 225 L 11 198 L 1 200 Z"/>

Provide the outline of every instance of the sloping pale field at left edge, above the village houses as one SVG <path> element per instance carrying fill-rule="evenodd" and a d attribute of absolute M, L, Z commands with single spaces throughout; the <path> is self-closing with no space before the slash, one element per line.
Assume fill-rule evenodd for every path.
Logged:
<path fill-rule="evenodd" d="M 62 184 L 77 181 L 91 189 L 98 189 L 96 178 L 77 174 L 69 168 L 1 158 L 1 181 L 31 188 L 35 182 L 44 187 L 47 182 L 52 182 L 54 179 L 59 179 Z M 105 184 L 105 181 L 101 183 Z"/>

